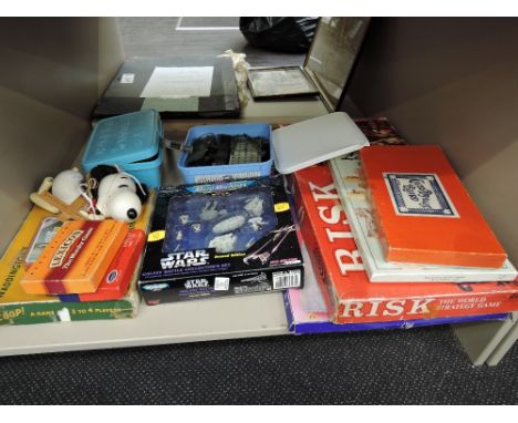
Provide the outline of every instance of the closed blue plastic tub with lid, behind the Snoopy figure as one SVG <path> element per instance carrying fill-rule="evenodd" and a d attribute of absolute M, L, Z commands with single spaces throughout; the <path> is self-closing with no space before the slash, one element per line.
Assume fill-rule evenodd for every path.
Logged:
<path fill-rule="evenodd" d="M 101 164 L 117 165 L 141 183 L 157 188 L 163 136 L 160 116 L 155 110 L 103 118 L 90 135 L 81 164 L 85 172 Z"/>

